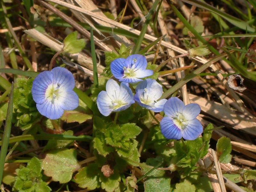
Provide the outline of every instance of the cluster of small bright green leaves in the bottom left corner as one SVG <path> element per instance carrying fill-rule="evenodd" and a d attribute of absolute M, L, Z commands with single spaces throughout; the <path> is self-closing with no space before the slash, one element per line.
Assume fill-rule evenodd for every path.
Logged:
<path fill-rule="evenodd" d="M 12 190 L 18 192 L 49 192 L 51 188 L 42 180 L 42 163 L 33 157 L 27 167 L 16 169 L 17 177 Z"/>

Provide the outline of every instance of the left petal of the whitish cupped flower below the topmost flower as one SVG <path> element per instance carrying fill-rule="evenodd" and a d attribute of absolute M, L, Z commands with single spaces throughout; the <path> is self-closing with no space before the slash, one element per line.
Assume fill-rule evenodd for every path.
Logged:
<path fill-rule="evenodd" d="M 109 116 L 113 111 L 112 100 L 108 96 L 106 91 L 101 91 L 97 97 L 97 106 L 100 113 L 104 116 Z"/>

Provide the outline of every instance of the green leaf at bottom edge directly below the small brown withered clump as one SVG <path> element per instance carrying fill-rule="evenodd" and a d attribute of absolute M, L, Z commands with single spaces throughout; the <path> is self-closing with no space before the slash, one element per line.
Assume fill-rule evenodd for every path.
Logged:
<path fill-rule="evenodd" d="M 121 180 L 120 175 L 117 170 L 114 170 L 114 174 L 110 177 L 105 177 L 100 173 L 101 188 L 105 189 L 107 192 L 113 192 L 119 187 L 119 181 Z"/>

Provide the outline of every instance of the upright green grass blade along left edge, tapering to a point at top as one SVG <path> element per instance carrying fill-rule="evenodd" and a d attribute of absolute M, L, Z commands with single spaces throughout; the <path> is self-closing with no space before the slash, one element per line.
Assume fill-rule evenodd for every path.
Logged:
<path fill-rule="evenodd" d="M 13 83 L 11 87 L 11 92 L 9 95 L 9 103 L 7 108 L 7 115 L 6 115 L 6 121 L 4 125 L 4 134 L 3 134 L 3 140 L 2 140 L 2 147 L 0 151 L 0 183 L 2 183 L 3 178 L 3 172 L 4 172 L 4 162 L 5 157 L 9 145 L 9 138 L 11 134 L 11 128 L 12 128 L 12 109 L 13 109 Z"/>

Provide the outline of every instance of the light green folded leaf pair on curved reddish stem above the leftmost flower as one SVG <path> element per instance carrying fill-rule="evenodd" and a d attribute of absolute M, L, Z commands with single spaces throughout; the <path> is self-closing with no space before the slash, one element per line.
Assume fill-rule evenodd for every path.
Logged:
<path fill-rule="evenodd" d="M 64 52 L 71 54 L 81 52 L 85 47 L 84 39 L 77 40 L 77 31 L 74 31 L 73 33 L 70 33 L 68 36 L 66 36 L 63 43 Z"/>

